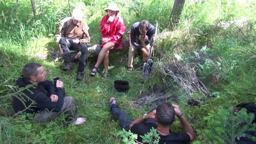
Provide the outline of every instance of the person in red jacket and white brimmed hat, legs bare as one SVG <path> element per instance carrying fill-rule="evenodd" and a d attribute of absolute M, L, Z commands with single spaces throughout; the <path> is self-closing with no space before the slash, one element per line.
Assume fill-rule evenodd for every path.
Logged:
<path fill-rule="evenodd" d="M 104 61 L 104 78 L 108 76 L 108 55 L 109 50 L 122 49 L 122 37 L 125 32 L 124 20 L 118 16 L 119 9 L 115 3 L 109 3 L 104 9 L 108 14 L 103 16 L 100 22 L 100 33 L 102 34 L 102 50 L 98 55 L 98 60 L 94 65 L 91 76 L 95 76 L 99 66 Z"/>

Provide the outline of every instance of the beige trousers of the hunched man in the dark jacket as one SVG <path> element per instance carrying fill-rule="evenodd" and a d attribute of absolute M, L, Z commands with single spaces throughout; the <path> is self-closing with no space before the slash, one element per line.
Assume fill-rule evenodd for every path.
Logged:
<path fill-rule="evenodd" d="M 134 61 L 134 55 L 135 55 L 135 52 L 137 50 L 137 48 L 132 45 L 131 43 L 131 38 L 130 38 L 130 34 L 129 34 L 129 40 L 130 40 L 130 47 L 129 47 L 129 52 L 128 52 L 128 68 L 133 68 L 133 61 Z M 138 42 L 139 39 L 136 37 L 136 42 Z M 150 52 L 150 44 L 148 44 L 146 46 L 146 50 L 148 51 L 148 53 Z M 142 58 L 142 62 L 146 62 L 148 60 L 148 56 L 145 56 L 142 52 L 142 55 L 143 55 L 143 58 Z"/>

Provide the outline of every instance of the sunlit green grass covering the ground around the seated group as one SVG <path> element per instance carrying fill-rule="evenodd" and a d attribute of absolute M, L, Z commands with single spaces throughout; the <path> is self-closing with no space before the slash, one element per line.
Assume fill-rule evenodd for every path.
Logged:
<path fill-rule="evenodd" d="M 138 118 L 155 105 L 136 108 L 132 101 L 161 89 L 166 92 L 168 101 L 180 106 L 192 125 L 196 132 L 194 143 L 214 143 L 211 136 L 204 134 L 209 134 L 212 122 L 218 121 L 218 118 L 214 117 L 212 121 L 209 120 L 212 113 L 217 113 L 219 109 L 228 113 L 230 108 L 241 102 L 256 104 L 254 1 L 231 0 L 231 6 L 226 1 L 186 1 L 180 22 L 172 34 L 164 39 L 158 38 L 155 42 L 154 74 L 148 78 L 145 86 L 140 69 L 126 72 L 128 52 L 110 54 L 108 79 L 102 78 L 103 66 L 100 66 L 96 76 L 90 76 L 90 70 L 97 58 L 88 58 L 84 79 L 80 82 L 76 81 L 78 63 L 75 63 L 74 69 L 64 72 L 62 62 L 54 62 L 50 57 L 47 60 L 36 58 L 37 52 L 47 54 L 47 48 L 57 48 L 54 44 L 54 34 L 58 22 L 70 15 L 68 2 L 71 11 L 82 4 L 84 20 L 90 28 L 90 44 L 97 43 L 101 38 L 99 24 L 102 16 L 106 14 L 103 9 L 108 3 L 107 0 L 52 0 L 41 3 L 36 1 L 36 22 L 32 15 L 30 0 L 20 0 L 19 3 L 12 0 L 0 2 L 0 143 L 122 143 L 122 139 L 116 135 L 120 127 L 110 113 L 109 99 L 112 96 L 116 97 L 121 110 L 126 111 L 132 118 Z M 174 0 L 114 2 L 118 3 L 120 14 L 125 20 L 124 39 L 128 38 L 132 24 L 143 19 L 152 24 L 158 22 L 160 32 L 168 32 L 168 20 Z M 243 26 L 216 26 L 218 22 L 230 22 L 244 17 L 248 23 Z M 194 52 L 200 52 L 203 46 L 210 49 L 201 52 L 200 59 L 195 58 Z M 210 92 L 220 92 L 219 95 L 205 99 L 196 92 L 193 99 L 200 101 L 204 98 L 204 102 L 200 102 L 200 107 L 188 105 L 190 96 L 177 86 L 172 78 L 159 71 L 161 63 L 173 59 L 174 54 L 182 56 L 184 62 L 188 62 L 197 70 L 197 77 L 204 82 Z M 10 88 L 28 62 L 42 64 L 48 73 L 48 80 L 55 76 L 61 78 L 68 95 L 76 100 L 78 116 L 87 118 L 86 124 L 66 126 L 63 114 L 42 124 L 31 124 L 25 116 L 12 117 L 14 110 L 11 106 Z M 220 66 L 217 66 L 217 62 Z M 202 65 L 203 69 L 198 64 Z M 140 65 L 141 60 L 136 58 L 135 69 Z M 127 93 L 114 90 L 114 80 L 118 79 L 130 83 L 130 90 Z M 140 95 L 143 86 L 144 90 Z M 172 130 L 181 132 L 180 123 L 175 122 Z"/>

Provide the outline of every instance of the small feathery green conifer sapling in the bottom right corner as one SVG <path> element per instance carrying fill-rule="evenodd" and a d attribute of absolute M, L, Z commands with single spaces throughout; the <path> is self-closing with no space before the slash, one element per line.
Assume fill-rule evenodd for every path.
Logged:
<path fill-rule="evenodd" d="M 245 108 L 234 113 L 231 109 L 219 108 L 217 112 L 211 111 L 204 120 L 207 121 L 207 127 L 199 130 L 198 133 L 208 142 L 235 144 L 235 140 L 241 137 L 250 138 L 256 142 L 255 136 L 246 133 L 256 132 L 256 124 L 252 124 L 254 114 L 247 114 Z"/>

